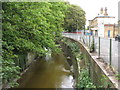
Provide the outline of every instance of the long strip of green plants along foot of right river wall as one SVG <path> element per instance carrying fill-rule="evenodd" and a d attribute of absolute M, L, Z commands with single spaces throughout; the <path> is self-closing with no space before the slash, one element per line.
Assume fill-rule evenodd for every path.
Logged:
<path fill-rule="evenodd" d="M 84 61 L 84 53 L 80 52 L 80 47 L 77 42 L 72 42 L 69 39 L 64 38 L 64 42 L 70 47 L 71 51 L 73 52 L 74 56 L 77 58 L 78 65 L 80 61 Z M 92 83 L 89 75 L 89 64 L 87 67 L 83 68 L 82 66 L 79 66 L 81 68 L 78 69 L 80 71 L 78 82 L 76 87 L 77 88 L 96 88 L 96 86 Z M 78 68 L 79 68 L 78 67 Z"/>

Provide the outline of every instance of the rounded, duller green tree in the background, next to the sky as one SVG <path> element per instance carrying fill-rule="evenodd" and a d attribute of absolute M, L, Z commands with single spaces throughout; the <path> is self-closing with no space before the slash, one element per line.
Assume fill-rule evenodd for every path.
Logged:
<path fill-rule="evenodd" d="M 65 16 L 65 31 L 75 32 L 81 30 L 84 28 L 85 21 L 85 11 L 79 6 L 70 5 Z"/>

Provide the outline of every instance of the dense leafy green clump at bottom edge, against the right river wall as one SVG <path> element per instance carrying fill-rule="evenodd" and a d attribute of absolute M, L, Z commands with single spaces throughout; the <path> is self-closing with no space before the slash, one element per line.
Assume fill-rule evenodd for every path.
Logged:
<path fill-rule="evenodd" d="M 77 88 L 96 88 L 89 77 L 88 69 L 82 69 L 78 81 Z"/>

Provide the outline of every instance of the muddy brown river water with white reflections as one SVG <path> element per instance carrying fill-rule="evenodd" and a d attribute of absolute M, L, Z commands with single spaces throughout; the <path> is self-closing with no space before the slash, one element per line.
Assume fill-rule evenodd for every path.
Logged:
<path fill-rule="evenodd" d="M 24 88 L 72 88 L 73 77 L 63 54 L 53 55 L 37 62 L 32 78 Z"/>

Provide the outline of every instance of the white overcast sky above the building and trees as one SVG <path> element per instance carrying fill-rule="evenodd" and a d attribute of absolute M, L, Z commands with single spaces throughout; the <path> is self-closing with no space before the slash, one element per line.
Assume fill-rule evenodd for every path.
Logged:
<path fill-rule="evenodd" d="M 100 9 L 107 7 L 108 15 L 115 16 L 118 21 L 118 2 L 120 0 L 66 0 L 71 4 L 80 6 L 86 12 L 86 24 L 100 13 Z"/>

